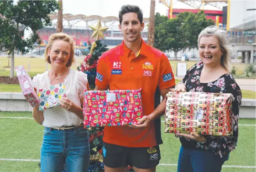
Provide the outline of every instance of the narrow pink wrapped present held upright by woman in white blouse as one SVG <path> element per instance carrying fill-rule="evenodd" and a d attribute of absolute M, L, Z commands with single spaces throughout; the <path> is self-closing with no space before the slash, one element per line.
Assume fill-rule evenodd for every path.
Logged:
<path fill-rule="evenodd" d="M 23 66 L 15 67 L 15 71 L 20 82 L 22 93 L 29 104 L 34 107 L 39 104 L 37 93 L 34 90 L 31 77 Z"/>

